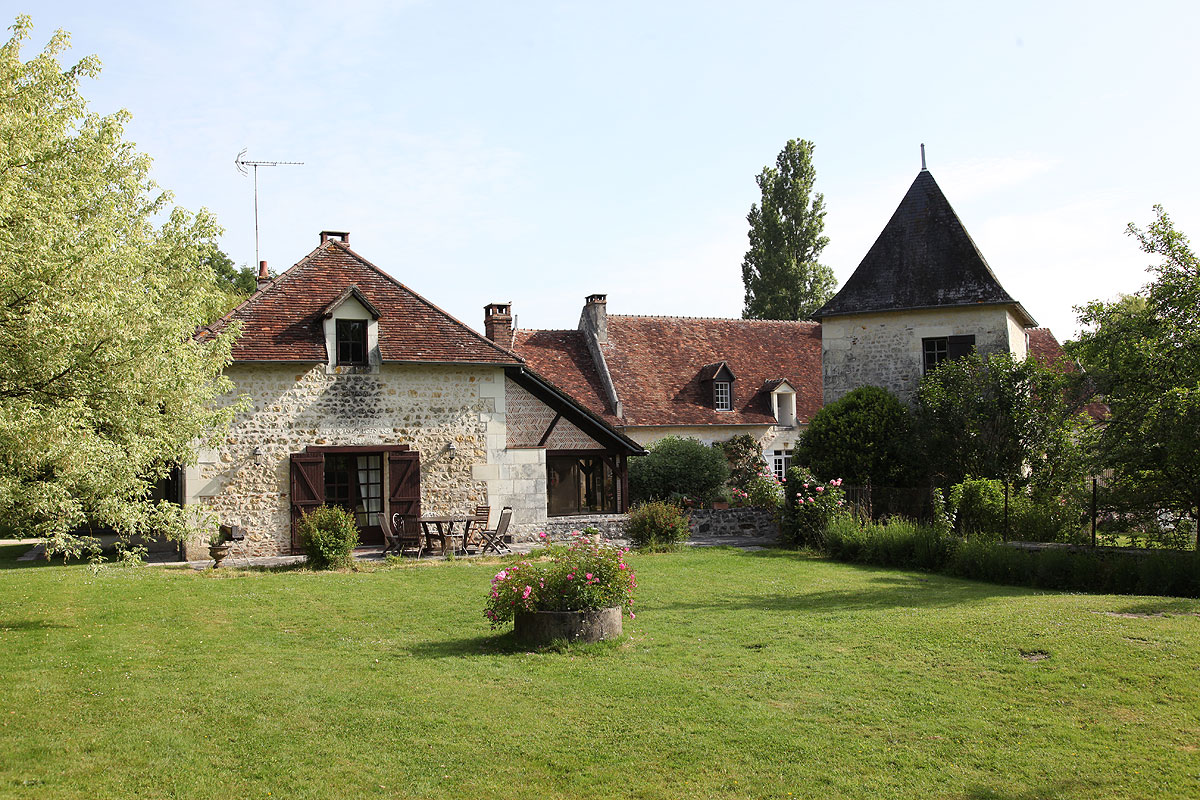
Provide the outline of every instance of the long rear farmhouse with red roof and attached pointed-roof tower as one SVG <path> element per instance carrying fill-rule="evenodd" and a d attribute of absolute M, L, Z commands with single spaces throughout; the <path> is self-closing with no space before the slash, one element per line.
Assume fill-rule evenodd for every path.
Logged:
<path fill-rule="evenodd" d="M 817 321 L 610 315 L 595 294 L 576 330 L 514 331 L 511 311 L 487 307 L 488 338 L 629 438 L 749 433 L 778 475 L 812 415 L 857 386 L 911 401 L 926 371 L 972 348 L 1066 360 L 1000 284 L 928 169 Z"/>

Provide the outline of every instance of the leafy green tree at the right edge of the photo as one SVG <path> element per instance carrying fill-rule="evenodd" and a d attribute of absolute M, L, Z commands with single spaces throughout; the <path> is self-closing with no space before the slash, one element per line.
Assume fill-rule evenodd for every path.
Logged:
<path fill-rule="evenodd" d="M 1110 409 L 1099 465 L 1130 506 L 1200 523 L 1200 261 L 1162 206 L 1128 234 L 1159 258 L 1152 279 L 1116 302 L 1078 308 L 1072 351 Z"/>

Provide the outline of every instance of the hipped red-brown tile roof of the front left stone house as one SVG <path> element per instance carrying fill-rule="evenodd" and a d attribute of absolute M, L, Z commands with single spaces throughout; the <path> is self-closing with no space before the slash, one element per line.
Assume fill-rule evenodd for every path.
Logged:
<path fill-rule="evenodd" d="M 352 287 L 379 312 L 379 354 L 384 361 L 522 361 L 336 240 L 323 242 L 198 335 L 204 338 L 240 320 L 241 336 L 233 348 L 235 361 L 328 361 L 323 314 Z"/>

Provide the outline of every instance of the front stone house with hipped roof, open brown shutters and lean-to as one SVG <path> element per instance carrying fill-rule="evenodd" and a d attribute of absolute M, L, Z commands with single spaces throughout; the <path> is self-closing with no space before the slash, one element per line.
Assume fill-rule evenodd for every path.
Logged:
<path fill-rule="evenodd" d="M 182 499 L 244 534 L 234 555 L 298 549 L 322 503 L 355 511 L 364 543 L 384 515 L 504 506 L 518 535 L 582 527 L 628 505 L 643 450 L 509 348 L 480 336 L 323 231 L 319 246 L 200 336 L 241 333 L 227 374 L 245 398 Z M 198 557 L 199 542 L 187 546 Z"/>

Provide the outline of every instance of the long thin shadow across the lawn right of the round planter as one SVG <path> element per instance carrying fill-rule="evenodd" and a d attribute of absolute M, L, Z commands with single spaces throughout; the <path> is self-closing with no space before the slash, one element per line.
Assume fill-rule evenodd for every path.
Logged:
<path fill-rule="evenodd" d="M 846 566 L 854 569 L 854 565 Z M 866 567 L 858 569 L 868 570 Z M 876 570 L 869 571 L 876 572 Z M 664 610 L 746 609 L 823 614 L 880 608 L 946 608 L 978 602 L 989 597 L 1014 597 L 1036 594 L 1030 589 L 949 581 L 940 576 L 926 578 L 912 575 L 875 575 L 874 577 L 865 578 L 864 582 L 871 585 L 868 588 L 832 589 L 827 591 L 797 590 L 794 594 L 786 595 L 725 595 L 707 601 L 665 603 L 662 606 L 654 606 L 654 608 Z"/>

